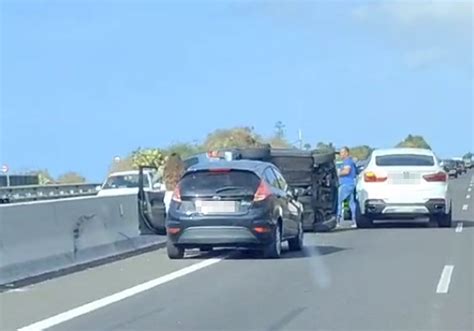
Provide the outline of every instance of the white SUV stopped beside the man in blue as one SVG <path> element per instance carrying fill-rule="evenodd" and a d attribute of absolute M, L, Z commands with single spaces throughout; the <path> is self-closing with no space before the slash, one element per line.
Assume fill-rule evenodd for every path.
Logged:
<path fill-rule="evenodd" d="M 357 226 L 370 227 L 377 219 L 429 217 L 450 227 L 448 178 L 430 150 L 375 150 L 357 181 Z"/>

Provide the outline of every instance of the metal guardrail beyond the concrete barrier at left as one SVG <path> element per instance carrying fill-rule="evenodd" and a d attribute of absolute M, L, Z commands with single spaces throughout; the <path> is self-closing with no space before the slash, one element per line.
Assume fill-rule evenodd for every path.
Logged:
<path fill-rule="evenodd" d="M 101 184 L 58 184 L 0 187 L 0 203 L 54 200 L 96 195 Z"/>

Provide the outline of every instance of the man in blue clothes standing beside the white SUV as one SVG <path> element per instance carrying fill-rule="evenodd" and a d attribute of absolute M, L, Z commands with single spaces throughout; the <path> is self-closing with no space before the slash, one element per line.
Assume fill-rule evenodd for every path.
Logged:
<path fill-rule="evenodd" d="M 339 155 L 342 159 L 342 166 L 339 169 L 339 201 L 337 209 L 338 226 L 341 226 L 344 220 L 344 208 L 343 204 L 346 199 L 349 199 L 349 207 L 352 213 L 352 227 L 356 227 L 355 215 L 356 215 L 356 201 L 355 201 L 355 186 L 357 180 L 357 167 L 350 156 L 350 150 L 348 147 L 341 148 Z"/>

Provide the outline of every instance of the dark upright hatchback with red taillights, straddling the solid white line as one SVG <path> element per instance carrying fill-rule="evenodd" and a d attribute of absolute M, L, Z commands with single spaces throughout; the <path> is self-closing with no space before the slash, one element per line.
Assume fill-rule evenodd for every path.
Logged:
<path fill-rule="evenodd" d="M 167 252 L 185 249 L 256 249 L 278 258 L 283 241 L 303 247 L 302 206 L 278 168 L 260 161 L 196 164 L 185 172 L 167 215 Z"/>

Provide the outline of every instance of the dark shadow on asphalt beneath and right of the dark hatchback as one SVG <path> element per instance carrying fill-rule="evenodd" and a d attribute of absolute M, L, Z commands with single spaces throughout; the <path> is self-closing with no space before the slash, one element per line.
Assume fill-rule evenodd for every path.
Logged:
<path fill-rule="evenodd" d="M 301 251 L 289 251 L 287 245 L 283 246 L 280 260 L 285 259 L 300 259 L 311 258 L 316 256 L 326 256 L 345 251 L 348 248 L 337 246 L 323 246 L 323 245 L 305 245 Z M 264 258 L 262 253 L 255 250 L 246 249 L 216 249 L 211 252 L 190 251 L 187 253 L 185 259 L 188 260 L 202 260 L 213 257 L 226 256 L 226 260 L 273 260 Z"/>

